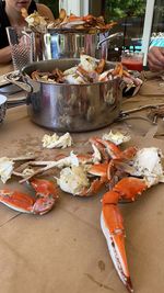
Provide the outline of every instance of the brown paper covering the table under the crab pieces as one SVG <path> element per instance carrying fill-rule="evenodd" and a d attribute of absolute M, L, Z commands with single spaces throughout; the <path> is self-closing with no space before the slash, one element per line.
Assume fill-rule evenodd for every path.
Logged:
<path fill-rule="evenodd" d="M 124 100 L 122 110 L 161 102 L 164 102 L 164 98 L 155 95 L 155 92 L 151 98 L 136 95 Z M 80 150 L 80 142 L 86 142 L 90 136 L 115 128 L 130 133 L 131 145 L 156 146 L 164 151 L 163 139 L 153 138 L 157 126 L 139 117 L 144 114 L 133 114 L 138 117 L 114 123 L 96 132 L 72 134 L 73 149 L 78 147 Z M 36 151 L 43 158 L 51 158 L 56 150 L 45 151 L 42 148 L 45 133 L 52 132 L 33 124 L 26 106 L 8 110 L 5 121 L 0 125 L 0 157 Z M 14 179 L 10 180 L 9 187 L 28 191 Z M 60 192 L 55 209 L 44 216 L 21 214 L 0 204 L 1 292 L 126 293 L 99 226 L 102 194 L 82 199 Z M 120 206 L 134 292 L 162 293 L 164 184 L 144 192 L 134 203 Z"/>

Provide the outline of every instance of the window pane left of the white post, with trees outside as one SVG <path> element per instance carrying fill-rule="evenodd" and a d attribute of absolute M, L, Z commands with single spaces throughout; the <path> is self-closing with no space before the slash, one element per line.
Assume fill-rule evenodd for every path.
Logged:
<path fill-rule="evenodd" d="M 119 60 L 121 50 L 141 50 L 147 0 L 106 0 L 104 16 L 107 22 L 117 24 L 110 33 L 120 32 L 122 36 L 109 43 L 109 60 Z"/>

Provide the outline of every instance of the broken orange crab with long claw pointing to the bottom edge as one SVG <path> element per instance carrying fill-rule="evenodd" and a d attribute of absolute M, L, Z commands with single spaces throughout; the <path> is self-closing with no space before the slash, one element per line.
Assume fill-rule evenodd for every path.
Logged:
<path fill-rule="evenodd" d="M 67 167 L 61 170 L 57 183 L 73 195 L 93 195 L 112 181 L 119 170 L 117 181 L 103 195 L 101 226 L 114 266 L 129 292 L 133 292 L 125 249 L 124 219 L 118 207 L 120 201 L 134 201 L 147 189 L 164 182 L 162 151 L 156 147 L 128 148 L 121 151 L 110 142 L 97 139 L 107 147 L 109 161 L 92 166 Z M 91 176 L 94 180 L 91 181 Z"/>

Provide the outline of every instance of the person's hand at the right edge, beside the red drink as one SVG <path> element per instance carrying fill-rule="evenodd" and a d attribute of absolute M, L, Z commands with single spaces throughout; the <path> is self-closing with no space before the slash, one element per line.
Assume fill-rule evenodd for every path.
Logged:
<path fill-rule="evenodd" d="M 164 70 L 164 48 L 151 47 L 148 54 L 148 64 L 152 71 Z"/>

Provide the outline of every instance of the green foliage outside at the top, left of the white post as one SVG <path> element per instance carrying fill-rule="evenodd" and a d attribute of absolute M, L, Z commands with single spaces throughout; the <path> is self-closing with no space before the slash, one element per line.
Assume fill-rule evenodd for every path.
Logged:
<path fill-rule="evenodd" d="M 145 0 L 106 0 L 105 19 L 115 21 L 126 16 L 140 16 L 145 11 Z"/>

